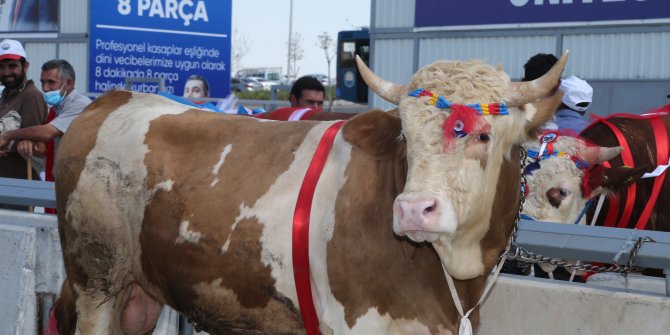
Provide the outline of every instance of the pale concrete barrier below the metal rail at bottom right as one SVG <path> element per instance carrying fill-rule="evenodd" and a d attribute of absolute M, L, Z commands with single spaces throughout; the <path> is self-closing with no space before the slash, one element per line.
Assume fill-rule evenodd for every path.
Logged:
<path fill-rule="evenodd" d="M 501 275 L 481 309 L 479 335 L 647 335 L 670 333 L 662 278 L 638 278 L 656 292 Z M 633 284 L 636 279 L 631 278 Z"/>

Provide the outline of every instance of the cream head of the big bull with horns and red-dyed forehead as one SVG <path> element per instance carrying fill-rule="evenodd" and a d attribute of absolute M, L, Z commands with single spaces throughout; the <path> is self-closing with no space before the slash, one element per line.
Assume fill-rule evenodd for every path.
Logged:
<path fill-rule="evenodd" d="M 553 116 L 560 97 L 543 107 L 530 103 L 550 95 L 566 61 L 567 53 L 545 76 L 524 83 L 480 62 L 438 61 L 398 85 L 357 59 L 368 86 L 399 106 L 407 141 L 409 170 L 394 203 L 393 229 L 415 242 L 432 242 L 453 277 L 484 273 L 481 241 L 494 199 L 519 193 L 517 186 L 496 194 L 502 165 L 515 145 Z M 503 177 L 518 178 L 514 173 Z"/>

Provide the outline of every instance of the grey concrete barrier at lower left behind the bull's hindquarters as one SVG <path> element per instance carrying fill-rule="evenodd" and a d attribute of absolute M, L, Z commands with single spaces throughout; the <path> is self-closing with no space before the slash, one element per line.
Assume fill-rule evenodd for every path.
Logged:
<path fill-rule="evenodd" d="M 0 334 L 41 333 L 65 278 L 54 215 L 0 210 Z"/>

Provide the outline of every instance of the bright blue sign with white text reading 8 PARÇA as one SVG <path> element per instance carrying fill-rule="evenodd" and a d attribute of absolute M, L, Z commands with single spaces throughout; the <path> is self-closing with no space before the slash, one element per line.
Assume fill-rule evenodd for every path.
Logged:
<path fill-rule="evenodd" d="M 183 95 L 191 75 L 202 76 L 209 96 L 230 92 L 232 0 L 90 1 L 89 92 L 123 88 Z M 153 80 L 153 81 L 152 81 Z"/>

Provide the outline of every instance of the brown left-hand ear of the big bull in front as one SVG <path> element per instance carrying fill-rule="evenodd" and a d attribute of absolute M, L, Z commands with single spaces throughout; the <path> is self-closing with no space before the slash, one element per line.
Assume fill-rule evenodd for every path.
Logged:
<path fill-rule="evenodd" d="M 401 132 L 400 118 L 382 111 L 356 115 L 342 128 L 345 141 L 375 158 L 397 152 Z"/>

